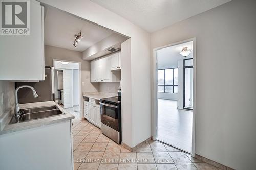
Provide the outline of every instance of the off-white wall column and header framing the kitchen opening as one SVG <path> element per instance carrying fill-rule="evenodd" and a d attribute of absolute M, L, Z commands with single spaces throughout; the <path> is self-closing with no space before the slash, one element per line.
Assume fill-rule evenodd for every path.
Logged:
<path fill-rule="evenodd" d="M 131 37 L 131 57 L 126 56 L 127 60 L 131 61 L 131 67 L 122 67 L 122 74 L 131 73 L 131 77 L 122 77 L 122 80 L 127 79 L 132 85 L 131 88 L 122 86 L 123 93 L 126 91 L 131 93 L 131 95 L 123 96 L 127 98 L 124 100 L 131 102 L 131 108 L 129 106 L 123 109 L 122 114 L 131 114 L 132 124 L 130 122 L 124 126 L 133 127 L 133 130 L 132 135 L 127 134 L 129 135 L 127 138 L 131 141 L 123 140 L 123 142 L 134 147 L 151 137 L 150 34 L 89 0 L 77 0 L 76 4 L 79 6 L 74 6 L 74 2 L 69 0 L 40 0 L 40 2 Z"/>

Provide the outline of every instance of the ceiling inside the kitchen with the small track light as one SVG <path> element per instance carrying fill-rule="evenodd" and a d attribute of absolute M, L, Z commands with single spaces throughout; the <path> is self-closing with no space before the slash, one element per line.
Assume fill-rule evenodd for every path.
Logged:
<path fill-rule="evenodd" d="M 72 16 L 56 8 L 45 7 L 45 44 L 75 51 L 84 51 L 114 32 Z M 73 46 L 74 35 L 81 30 L 83 38 Z"/>

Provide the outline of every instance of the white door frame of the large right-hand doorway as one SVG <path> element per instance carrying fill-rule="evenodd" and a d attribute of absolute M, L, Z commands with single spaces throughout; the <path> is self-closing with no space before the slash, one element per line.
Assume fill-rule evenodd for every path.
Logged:
<path fill-rule="evenodd" d="M 157 50 L 162 48 L 193 41 L 193 119 L 192 119 L 192 150 L 191 155 L 195 157 L 195 133 L 196 133 L 196 37 L 171 43 L 153 49 L 153 140 L 157 138 Z"/>

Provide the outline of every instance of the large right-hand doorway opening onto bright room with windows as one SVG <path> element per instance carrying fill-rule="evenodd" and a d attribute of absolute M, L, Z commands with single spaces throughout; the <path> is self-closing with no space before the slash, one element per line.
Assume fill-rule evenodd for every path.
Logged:
<path fill-rule="evenodd" d="M 195 39 L 154 50 L 155 102 L 153 138 L 194 156 Z M 183 49 L 187 53 L 181 53 Z"/>

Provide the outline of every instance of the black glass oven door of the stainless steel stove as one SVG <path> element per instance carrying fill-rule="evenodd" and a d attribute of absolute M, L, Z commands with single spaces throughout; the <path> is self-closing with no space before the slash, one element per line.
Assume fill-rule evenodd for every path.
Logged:
<path fill-rule="evenodd" d="M 116 131 L 120 131 L 121 117 L 120 117 L 120 106 L 108 104 L 104 102 L 100 103 L 100 114 L 101 123 L 109 126 Z"/>

